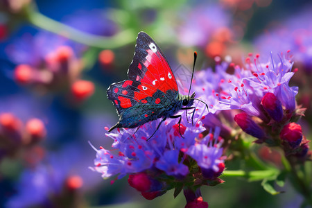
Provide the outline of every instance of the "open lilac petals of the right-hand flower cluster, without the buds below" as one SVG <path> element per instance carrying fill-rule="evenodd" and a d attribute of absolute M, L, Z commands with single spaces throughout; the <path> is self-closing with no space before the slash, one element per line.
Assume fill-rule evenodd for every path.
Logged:
<path fill-rule="evenodd" d="M 198 94 L 204 101 L 207 101 L 210 106 L 213 105 L 211 112 L 240 109 L 250 116 L 257 116 L 263 121 L 268 121 L 261 106 L 261 99 L 268 92 L 275 94 L 281 105 L 289 112 L 293 112 L 298 90 L 297 87 L 288 86 L 293 76 L 291 72 L 293 63 L 289 62 L 286 57 L 279 57 L 279 62 L 275 62 L 272 55 L 268 62 L 260 62 L 259 55 L 251 59 L 246 59 L 245 69 L 236 65 L 234 74 L 225 72 L 228 64 L 216 67 L 216 73 L 207 69 L 204 73 L 209 73 L 209 76 L 214 78 L 214 85 L 204 84 L 202 90 L 199 87 L 194 89 L 198 89 L 196 92 L 199 92 Z M 207 76 L 196 74 L 197 77 L 203 79 L 199 81 L 199 86 L 207 80 Z"/>

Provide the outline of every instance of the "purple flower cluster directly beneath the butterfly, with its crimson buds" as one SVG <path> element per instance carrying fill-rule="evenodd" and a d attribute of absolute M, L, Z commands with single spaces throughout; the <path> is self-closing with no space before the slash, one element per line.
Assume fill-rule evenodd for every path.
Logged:
<path fill-rule="evenodd" d="M 114 140 L 112 150 L 94 148 L 96 159 L 92 170 L 101 173 L 103 178 L 118 175 L 116 179 L 120 179 L 131 174 L 130 185 L 148 199 L 172 189 L 175 187 L 173 183 L 184 184 L 193 181 L 190 178 L 194 177 L 198 178 L 194 181 L 199 186 L 212 181 L 220 183 L 217 177 L 225 168 L 221 148 L 223 139 L 218 137 L 218 128 L 214 136 L 202 133 L 206 130 L 202 126 L 205 112 L 205 108 L 196 111 L 194 125 L 183 114 L 180 129 L 175 119 L 167 119 L 156 132 L 159 121 L 146 123 L 137 132 L 135 129 L 123 129 L 107 133 L 107 137 Z M 142 191 L 141 182 L 137 181 L 146 180 L 151 185 Z M 193 185 L 191 182 L 186 186 Z"/>

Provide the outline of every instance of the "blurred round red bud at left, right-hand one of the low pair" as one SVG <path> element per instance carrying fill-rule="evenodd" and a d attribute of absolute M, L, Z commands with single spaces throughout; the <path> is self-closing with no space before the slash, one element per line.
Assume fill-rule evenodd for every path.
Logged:
<path fill-rule="evenodd" d="M 26 131 L 34 139 L 42 139 L 46 136 L 46 128 L 40 119 L 30 119 L 26 123 Z"/>

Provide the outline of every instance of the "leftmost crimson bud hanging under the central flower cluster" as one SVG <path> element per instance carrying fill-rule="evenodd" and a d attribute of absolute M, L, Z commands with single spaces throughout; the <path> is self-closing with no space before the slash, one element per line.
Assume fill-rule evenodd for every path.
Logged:
<path fill-rule="evenodd" d="M 131 187 L 137 189 L 137 191 L 148 191 L 152 185 L 150 178 L 146 173 L 137 173 L 135 175 L 129 175 L 128 183 Z"/>

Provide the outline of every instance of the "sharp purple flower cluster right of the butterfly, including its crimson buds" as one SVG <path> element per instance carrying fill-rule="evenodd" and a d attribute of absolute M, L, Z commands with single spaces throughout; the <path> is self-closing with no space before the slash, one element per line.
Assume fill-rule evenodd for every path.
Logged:
<path fill-rule="evenodd" d="M 295 73 L 292 71 L 293 62 L 287 53 L 282 57 L 279 55 L 277 60 L 272 53 L 266 62 L 260 60 L 259 54 L 250 54 L 244 68 L 223 62 L 216 66 L 216 72 L 212 69 L 199 71 L 193 89 L 203 101 L 210 104 L 210 111 L 214 113 L 206 116 L 202 123 L 207 128 L 220 127 L 223 132 L 220 135 L 225 137 L 230 135 L 230 129 L 218 121 L 218 114 L 225 110 L 242 110 L 243 113 L 234 114 L 234 121 L 244 132 L 256 137 L 257 143 L 281 145 L 286 155 L 306 157 L 309 148 L 302 137 L 297 137 L 300 139 L 297 143 L 286 142 L 275 133 L 289 122 L 299 119 L 304 111 L 295 101 L 298 87 L 289 86 L 289 80 Z M 233 73 L 227 73 L 228 70 Z M 205 73 L 210 76 L 204 76 Z"/>

